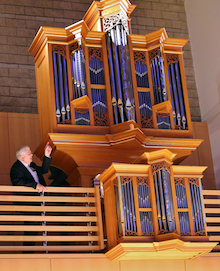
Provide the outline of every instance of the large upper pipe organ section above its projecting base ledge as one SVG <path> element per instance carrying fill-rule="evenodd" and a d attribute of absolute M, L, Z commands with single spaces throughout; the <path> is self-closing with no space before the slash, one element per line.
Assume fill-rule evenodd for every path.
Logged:
<path fill-rule="evenodd" d="M 48 119 L 50 132 L 86 126 L 95 133 L 91 126 L 133 120 L 152 135 L 172 130 L 177 137 L 191 137 L 182 60 L 187 40 L 168 38 L 165 29 L 131 34 L 135 6 L 128 0 L 111 2 L 94 1 L 82 21 L 65 29 L 39 30 L 30 52 L 37 69 L 48 69 L 36 77 L 49 76 L 43 88 L 52 101 L 44 102 L 51 110 L 39 106 L 41 118 Z M 43 55 L 45 65 L 39 60 Z M 45 128 L 41 125 L 42 137 Z"/>

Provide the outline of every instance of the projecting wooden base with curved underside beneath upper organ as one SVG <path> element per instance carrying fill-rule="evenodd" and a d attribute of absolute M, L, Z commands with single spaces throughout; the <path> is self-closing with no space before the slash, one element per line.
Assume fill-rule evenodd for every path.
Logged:
<path fill-rule="evenodd" d="M 142 154 L 146 149 L 155 151 L 168 148 L 176 152 L 175 159 L 181 161 L 202 142 L 202 140 L 192 139 L 148 137 L 134 121 L 114 125 L 112 133 L 106 133 L 106 135 L 50 133 L 35 153 L 38 157 L 42 157 L 44 146 L 47 141 L 50 141 L 54 146 L 52 161 L 54 166 L 61 168 L 68 176 L 76 167 L 78 170 L 93 168 L 93 176 L 96 176 L 97 168 L 104 170 L 111 165 L 112 161 L 145 162 Z"/>

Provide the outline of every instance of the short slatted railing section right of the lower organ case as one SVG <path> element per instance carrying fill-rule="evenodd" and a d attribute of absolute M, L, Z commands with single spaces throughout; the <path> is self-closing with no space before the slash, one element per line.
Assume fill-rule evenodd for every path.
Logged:
<path fill-rule="evenodd" d="M 203 190 L 206 231 L 210 242 L 220 241 L 220 190 Z M 220 244 L 213 251 L 220 251 Z"/>

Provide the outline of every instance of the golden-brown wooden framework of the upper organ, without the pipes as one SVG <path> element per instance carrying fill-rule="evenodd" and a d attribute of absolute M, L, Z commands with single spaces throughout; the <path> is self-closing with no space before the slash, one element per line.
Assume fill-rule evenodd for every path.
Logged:
<path fill-rule="evenodd" d="M 176 161 L 180 162 L 189 156 L 202 141 L 188 140 L 192 137 L 190 126 L 190 112 L 188 98 L 185 96 L 188 130 L 176 130 L 173 124 L 172 114 L 171 128 L 157 129 L 155 117 L 152 120 L 154 128 L 140 128 L 141 119 L 139 112 L 138 91 L 136 74 L 134 68 L 134 52 L 142 52 L 145 55 L 146 65 L 149 72 L 150 91 L 152 106 L 159 107 L 158 110 L 171 111 L 168 105 L 162 109 L 162 105 L 154 105 L 153 85 L 151 83 L 151 68 L 149 52 L 160 48 L 165 59 L 167 54 L 178 54 L 180 66 L 183 66 L 182 48 L 187 40 L 168 38 L 166 30 L 159 29 L 147 35 L 128 36 L 129 50 L 131 57 L 132 81 L 134 87 L 134 99 L 136 105 L 136 122 L 129 121 L 114 125 L 113 109 L 111 101 L 111 86 L 106 48 L 106 37 L 103 29 L 104 20 L 109 16 L 122 14 L 126 18 L 128 31 L 130 31 L 130 14 L 135 6 L 127 0 L 104 0 L 92 3 L 83 20 L 72 24 L 65 29 L 41 27 L 29 52 L 35 58 L 36 81 L 38 93 L 38 114 L 40 126 L 41 144 L 36 150 L 38 157 L 42 157 L 44 144 L 47 140 L 53 145 L 53 165 L 62 169 L 68 175 L 68 181 L 73 185 L 85 185 L 90 182 L 91 175 L 97 174 L 99 169 L 110 166 L 112 162 L 133 163 L 146 151 L 154 151 L 167 148 L 177 153 Z M 121 15 L 120 15 L 121 16 Z M 130 32 L 129 32 L 130 33 Z M 85 70 L 87 80 L 88 97 L 73 99 L 72 72 L 70 48 L 75 45 L 81 46 L 85 56 Z M 54 46 L 62 46 L 65 51 L 68 74 L 69 98 L 71 104 L 71 120 L 68 123 L 57 123 L 55 109 L 55 87 L 53 75 L 52 51 Z M 74 47 L 74 48 L 75 48 Z M 89 71 L 89 50 L 97 48 L 101 52 L 104 68 L 105 85 L 91 85 Z M 165 63 L 166 64 L 166 63 Z M 181 66 L 181 77 L 184 78 L 183 67 Z M 166 74 L 166 84 L 169 97 L 169 80 Z M 185 82 L 185 81 L 184 81 Z M 105 89 L 107 104 L 107 125 L 97 126 L 92 110 L 91 88 L 101 87 Z M 187 95 L 186 85 L 183 84 L 184 95 Z M 186 101 L 187 100 L 187 101 Z M 81 104 L 81 105 L 80 105 Z M 169 104 L 169 101 L 165 102 Z M 81 106 L 81 107 L 80 107 Z M 90 115 L 90 125 L 76 125 L 74 110 L 87 108 Z M 155 111 L 155 110 L 153 110 Z M 134 129 L 133 129 L 133 128 Z M 156 128 L 156 129 L 155 129 Z M 175 139 L 176 138 L 176 139 Z M 182 138 L 181 140 L 177 138 Z M 94 170 L 92 170 L 94 169 Z M 93 173 L 92 173 L 93 172 Z M 100 173 L 100 172 L 98 172 Z M 89 181 L 90 178 L 90 181 Z"/>

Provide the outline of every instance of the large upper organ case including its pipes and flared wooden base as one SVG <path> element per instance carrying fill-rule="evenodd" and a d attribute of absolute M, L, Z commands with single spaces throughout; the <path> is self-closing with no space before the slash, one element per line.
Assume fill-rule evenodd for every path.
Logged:
<path fill-rule="evenodd" d="M 112 162 L 133 163 L 145 151 L 170 149 L 177 163 L 201 143 L 192 139 L 187 40 L 164 28 L 132 34 L 134 8 L 128 0 L 94 1 L 73 25 L 41 27 L 30 46 L 42 141 L 36 154 L 50 140 L 53 165 L 71 185 L 91 186 Z"/>

